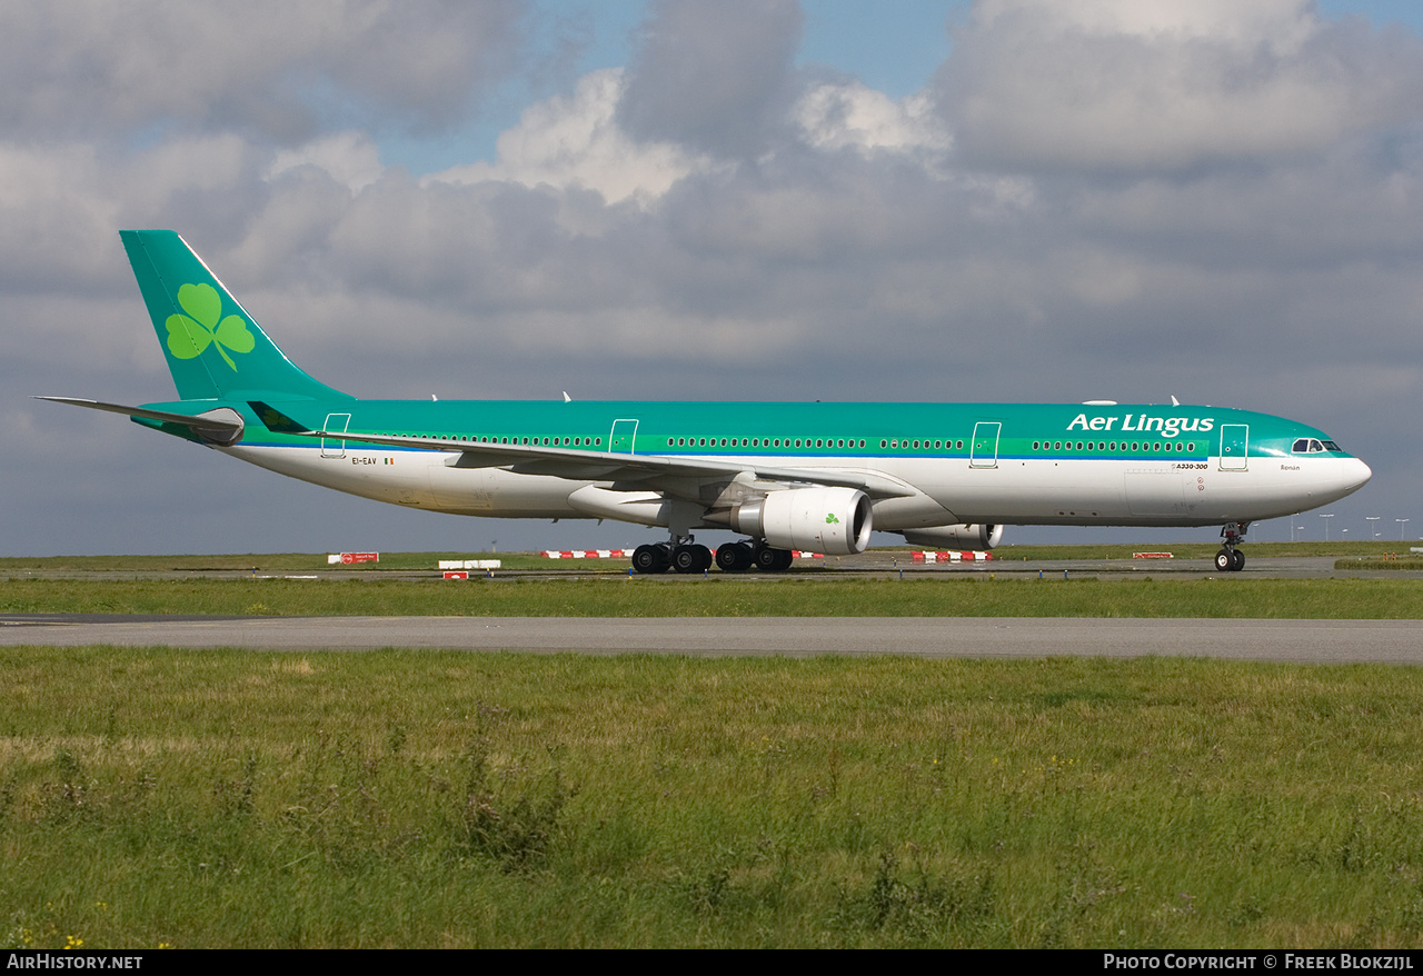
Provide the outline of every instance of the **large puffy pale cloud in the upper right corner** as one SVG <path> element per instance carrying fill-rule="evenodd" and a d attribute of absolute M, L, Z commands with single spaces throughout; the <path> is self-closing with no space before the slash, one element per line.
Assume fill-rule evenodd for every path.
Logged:
<path fill-rule="evenodd" d="M 938 78 L 979 165 L 1133 172 L 1316 152 L 1417 117 L 1423 43 L 1305 0 L 983 0 Z"/>

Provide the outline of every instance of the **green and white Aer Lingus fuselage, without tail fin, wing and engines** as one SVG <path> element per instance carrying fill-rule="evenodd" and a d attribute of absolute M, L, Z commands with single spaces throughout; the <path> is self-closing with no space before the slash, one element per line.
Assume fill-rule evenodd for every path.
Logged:
<path fill-rule="evenodd" d="M 152 404 L 192 413 L 194 403 Z M 213 404 L 218 405 L 218 404 Z M 327 437 L 248 427 L 243 461 L 364 498 L 488 518 L 592 516 L 569 502 L 585 485 L 626 481 L 465 467 L 460 451 L 370 445 L 384 434 L 609 454 L 872 472 L 905 494 L 875 498 L 882 531 L 953 522 L 1010 525 L 1220 525 L 1335 501 L 1368 467 L 1322 431 L 1268 414 L 1161 405 L 336 401 L 280 408 Z M 161 427 L 155 421 L 137 423 Z M 186 431 L 185 431 L 186 433 Z M 195 438 L 196 440 L 196 438 Z M 1305 450 L 1296 450 L 1303 447 Z M 704 501 L 713 501 L 706 498 Z"/>

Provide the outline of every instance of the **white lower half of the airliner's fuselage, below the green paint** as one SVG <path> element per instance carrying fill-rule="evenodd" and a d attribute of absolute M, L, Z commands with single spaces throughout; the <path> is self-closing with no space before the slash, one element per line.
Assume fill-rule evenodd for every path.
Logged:
<path fill-rule="evenodd" d="M 585 485 L 502 468 L 453 467 L 457 454 L 319 447 L 221 448 L 269 471 L 374 501 L 485 518 L 588 518 L 568 502 Z M 334 454 L 334 455 L 332 455 Z M 730 460 L 730 458 L 719 458 Z M 750 458 L 748 458 L 750 461 Z M 1289 515 L 1340 498 L 1352 458 L 1019 460 L 992 467 L 953 458 L 818 458 L 794 467 L 875 471 L 918 489 L 874 502 L 875 528 L 998 525 L 1221 525 Z M 1358 462 L 1353 462 L 1358 464 Z M 778 467 L 787 460 L 777 458 Z M 1356 485 L 1355 485 L 1356 487 Z"/>

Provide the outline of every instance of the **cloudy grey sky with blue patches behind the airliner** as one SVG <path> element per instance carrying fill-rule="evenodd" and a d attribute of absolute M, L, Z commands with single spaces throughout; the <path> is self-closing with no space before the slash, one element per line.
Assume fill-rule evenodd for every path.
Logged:
<path fill-rule="evenodd" d="M 1402 0 L 7 0 L 0 555 L 656 538 L 30 400 L 174 396 L 121 228 L 361 397 L 1175 396 L 1322 427 L 1375 470 L 1333 538 L 1416 538 L 1420 179 Z"/>

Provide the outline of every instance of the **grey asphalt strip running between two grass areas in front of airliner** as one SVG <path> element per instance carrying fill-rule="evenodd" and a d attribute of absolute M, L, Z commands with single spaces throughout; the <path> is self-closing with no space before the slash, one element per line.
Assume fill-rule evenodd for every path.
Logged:
<path fill-rule="evenodd" d="M 0 616 L 0 645 L 1423 663 L 1423 620 Z"/>

